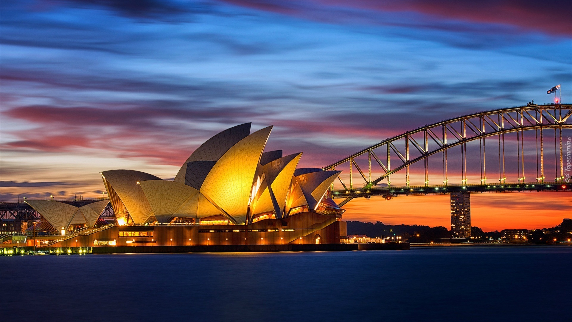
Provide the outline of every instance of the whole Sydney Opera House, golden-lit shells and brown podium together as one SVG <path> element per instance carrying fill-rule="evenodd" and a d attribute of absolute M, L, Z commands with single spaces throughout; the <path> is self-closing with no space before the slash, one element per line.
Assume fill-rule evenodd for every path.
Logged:
<path fill-rule="evenodd" d="M 108 170 L 101 176 L 109 200 L 27 203 L 61 231 L 54 247 L 339 243 L 343 210 L 328 189 L 340 171 L 297 168 L 301 153 L 264 152 L 271 130 L 250 133 L 245 123 L 218 133 L 173 181 Z M 116 223 L 98 225 L 109 203 Z"/>

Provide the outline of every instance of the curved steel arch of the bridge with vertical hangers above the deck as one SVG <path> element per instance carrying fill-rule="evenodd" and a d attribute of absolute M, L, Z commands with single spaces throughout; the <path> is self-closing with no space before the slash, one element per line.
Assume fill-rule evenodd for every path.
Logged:
<path fill-rule="evenodd" d="M 409 187 L 409 168 L 412 164 L 423 162 L 425 170 L 425 186 L 428 184 L 428 157 L 438 153 L 443 155 L 443 184 L 448 186 L 448 170 L 447 170 L 447 151 L 453 147 L 461 147 L 462 158 L 462 183 L 467 184 L 467 152 L 466 144 L 479 140 L 481 144 L 481 184 L 486 184 L 486 155 L 483 154 L 484 144 L 486 138 L 491 136 L 498 137 L 499 143 L 499 172 L 501 171 L 501 156 L 502 156 L 502 172 L 499 184 L 506 182 L 504 174 L 505 168 L 505 134 L 517 132 L 518 150 L 518 183 L 525 182 L 524 175 L 524 148 L 523 148 L 523 132 L 536 131 L 537 138 L 537 183 L 545 183 L 545 169 L 544 169 L 544 137 L 545 129 L 554 129 L 555 143 L 559 138 L 559 176 L 553 182 L 563 182 L 564 177 L 564 163 L 562 151 L 562 129 L 572 128 L 572 105 L 570 104 L 544 104 L 537 105 L 529 103 L 526 106 L 510 107 L 494 109 L 490 111 L 478 112 L 468 115 L 455 117 L 452 119 L 440 121 L 438 123 L 424 125 L 423 127 L 416 128 L 412 131 L 402 133 L 383 140 L 370 147 L 364 148 L 341 159 L 335 163 L 323 167 L 324 170 L 335 170 L 336 167 L 342 164 L 349 163 L 349 187 L 339 177 L 340 183 L 344 190 L 353 190 L 353 168 L 355 168 L 359 175 L 364 179 L 366 184 L 362 188 L 370 189 L 382 180 L 387 179 L 387 185 L 391 186 L 391 175 L 400 170 L 406 171 L 406 187 Z M 520 133 L 520 142 L 518 133 Z M 412 148 L 411 148 L 412 147 Z M 540 150 L 538 151 L 538 147 Z M 376 149 L 383 151 L 382 158 L 374 152 Z M 368 170 L 363 171 L 359 167 L 355 158 L 358 156 L 368 156 Z M 538 159 L 538 154 L 540 158 Z M 392 158 L 392 155 L 394 157 Z M 372 160 L 379 165 L 383 174 L 377 178 L 372 178 Z M 398 159 L 398 164 L 394 166 L 395 159 Z M 539 162 L 540 161 L 540 162 Z M 558 163 L 558 162 L 557 162 Z M 394 167 L 392 167 L 394 166 Z M 522 172 L 521 172 L 522 168 Z M 484 171 L 483 171 L 484 170 Z M 484 172 L 484 173 L 483 173 Z M 558 172 L 558 170 L 557 170 Z M 522 176 L 521 176 L 522 174 Z M 367 175 L 367 176 L 366 176 Z M 500 174 L 499 174 L 500 175 Z M 558 175 L 558 174 L 557 174 Z M 360 188 L 361 189 L 361 188 Z"/>

